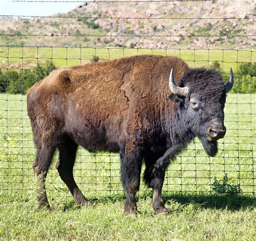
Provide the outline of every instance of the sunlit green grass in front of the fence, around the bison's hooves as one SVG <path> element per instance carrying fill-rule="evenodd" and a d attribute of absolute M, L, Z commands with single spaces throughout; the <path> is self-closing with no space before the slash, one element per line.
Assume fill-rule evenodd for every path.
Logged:
<path fill-rule="evenodd" d="M 139 199 L 142 214 L 126 217 L 123 200 L 99 199 L 78 208 L 60 199 L 53 211 L 38 211 L 33 196 L 27 202 L 0 206 L 1 239 L 18 240 L 253 240 L 255 209 L 215 208 L 204 200 L 170 196 L 168 216 L 156 216 L 149 197 Z M 32 200 L 32 201 L 31 201 Z M 251 202 L 252 205 L 252 202 Z"/>

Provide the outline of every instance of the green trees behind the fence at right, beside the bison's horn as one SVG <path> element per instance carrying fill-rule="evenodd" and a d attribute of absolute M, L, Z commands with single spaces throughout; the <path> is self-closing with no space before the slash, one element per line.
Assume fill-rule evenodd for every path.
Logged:
<path fill-rule="evenodd" d="M 219 61 L 213 61 L 210 67 L 222 71 Z M 227 76 L 223 78 L 226 80 Z M 234 74 L 234 87 L 230 93 L 256 93 L 256 63 L 238 63 L 238 73 Z"/>

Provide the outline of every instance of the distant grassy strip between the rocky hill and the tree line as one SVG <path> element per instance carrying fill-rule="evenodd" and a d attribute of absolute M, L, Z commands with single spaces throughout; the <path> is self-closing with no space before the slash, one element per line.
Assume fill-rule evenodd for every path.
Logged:
<path fill-rule="evenodd" d="M 28 69 L 47 59 L 59 68 L 91 62 L 93 56 L 98 56 L 100 60 L 111 60 L 136 54 L 179 56 L 190 67 L 208 66 L 213 61 L 222 61 L 220 67 L 227 73 L 230 67 L 236 73 L 239 62 L 256 62 L 256 52 L 247 50 L 0 46 L 0 68 Z"/>

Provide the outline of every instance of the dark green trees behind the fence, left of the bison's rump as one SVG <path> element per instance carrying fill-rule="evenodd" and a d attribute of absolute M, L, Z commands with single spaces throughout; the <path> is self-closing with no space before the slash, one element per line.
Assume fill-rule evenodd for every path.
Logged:
<path fill-rule="evenodd" d="M 45 65 L 38 65 L 35 69 L 22 69 L 19 72 L 0 70 L 0 93 L 8 91 L 11 94 L 25 94 L 33 84 L 44 79 L 53 69 L 56 69 L 55 65 L 47 61 Z"/>

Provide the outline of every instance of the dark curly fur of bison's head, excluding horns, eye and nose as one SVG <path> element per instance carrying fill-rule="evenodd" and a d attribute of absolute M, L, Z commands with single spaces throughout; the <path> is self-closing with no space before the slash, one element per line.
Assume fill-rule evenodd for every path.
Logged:
<path fill-rule="evenodd" d="M 179 87 L 189 87 L 186 97 L 169 95 L 169 99 L 176 103 L 176 115 L 173 116 L 169 132 L 171 142 L 188 144 L 194 137 L 198 137 L 208 155 L 214 156 L 217 151 L 217 142 L 206 139 L 206 128 L 213 122 L 224 122 L 224 105 L 226 94 L 222 76 L 215 69 L 194 68 L 188 69 L 177 83 Z M 190 99 L 200 100 L 200 108 L 192 110 Z M 182 134 L 181 134 L 182 133 Z M 177 137 L 180 138 L 177 138 Z"/>

